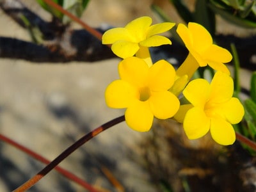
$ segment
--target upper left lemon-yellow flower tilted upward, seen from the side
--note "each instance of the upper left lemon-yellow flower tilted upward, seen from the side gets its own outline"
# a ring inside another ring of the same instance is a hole
[[[132,20],[125,28],[109,29],[102,36],[102,44],[113,44],[111,49],[120,58],[134,56],[143,47],[172,44],[168,38],[157,34],[168,31],[174,23],[151,24],[152,19],[145,16]]]

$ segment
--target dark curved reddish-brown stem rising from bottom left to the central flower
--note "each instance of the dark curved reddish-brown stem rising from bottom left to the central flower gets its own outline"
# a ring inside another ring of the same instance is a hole
[[[73,145],[68,147],[65,151],[63,151],[60,156],[56,157],[51,163],[49,163],[43,170],[38,172],[34,177],[29,179],[27,182],[22,184],[19,188],[15,189],[14,192],[21,192],[21,191],[26,191],[27,189],[31,188],[36,182],[38,182],[40,179],[42,179],[47,173],[51,172],[52,169],[54,169],[58,164],[63,161],[67,156],[72,154],[77,148],[81,147],[86,141],[89,141],[93,137],[97,136],[100,132],[105,131],[106,129],[112,127],[113,125],[119,124],[120,122],[123,122],[125,120],[124,115],[119,116],[118,118],[115,118],[106,124],[101,125],[100,127],[94,129],[92,132],[89,132],[85,136],[83,136],[81,139],[76,141]]]

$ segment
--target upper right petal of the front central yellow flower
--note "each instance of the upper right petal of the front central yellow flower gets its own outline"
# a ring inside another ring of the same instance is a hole
[[[175,69],[165,60],[157,61],[148,70],[148,86],[153,92],[168,90],[175,80]]]

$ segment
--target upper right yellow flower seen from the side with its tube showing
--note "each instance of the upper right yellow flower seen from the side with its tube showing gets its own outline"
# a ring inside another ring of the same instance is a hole
[[[177,33],[189,50],[187,59],[177,70],[177,76],[193,76],[198,67],[209,65],[214,70],[230,74],[223,63],[232,60],[232,55],[227,49],[212,44],[211,34],[200,24],[189,22],[188,28],[179,24]]]

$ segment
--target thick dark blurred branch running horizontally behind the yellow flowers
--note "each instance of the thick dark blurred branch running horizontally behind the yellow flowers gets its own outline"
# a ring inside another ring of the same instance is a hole
[[[1,58],[17,58],[33,62],[68,62],[97,61],[115,57],[109,47],[102,45],[87,31],[72,30],[70,26],[62,24],[56,18],[47,22],[18,0],[0,0],[0,8],[23,28],[39,29],[44,39],[41,45],[36,45],[14,38],[0,37]],[[29,20],[29,26],[24,23],[23,17]],[[216,42],[226,49],[230,49],[231,42],[234,43],[241,67],[256,70],[256,61],[252,60],[253,57],[256,57],[256,36],[237,38],[232,35],[217,35]],[[175,58],[178,61],[177,65],[184,61],[188,53],[177,42],[173,42],[171,47],[169,45],[154,47],[151,52],[154,61]]]

